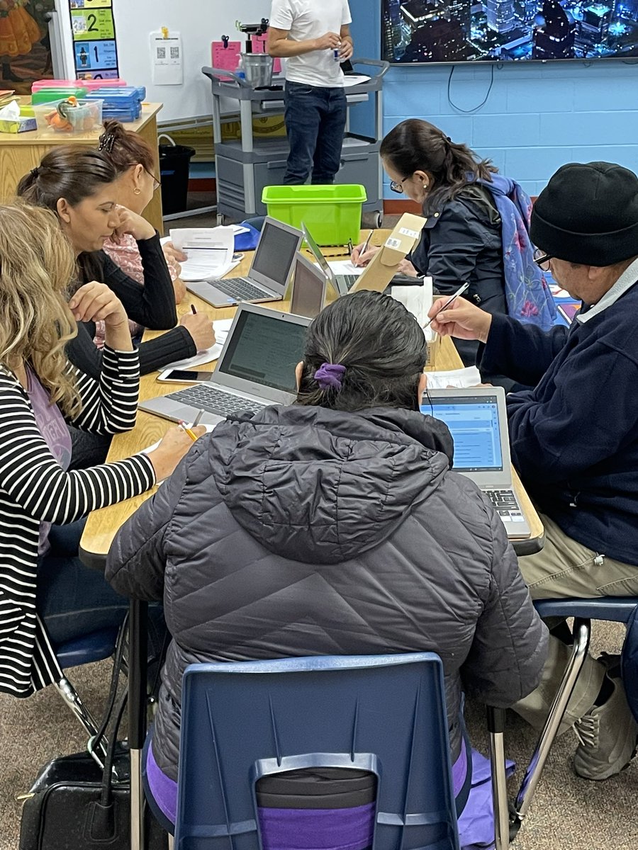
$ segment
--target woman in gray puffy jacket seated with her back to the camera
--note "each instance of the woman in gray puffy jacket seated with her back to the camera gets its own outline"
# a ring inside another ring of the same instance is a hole
[[[308,328],[296,402],[198,439],[117,535],[108,580],[163,599],[174,638],[147,762],[169,819],[193,662],[432,650],[465,798],[463,692],[511,706],[538,684],[544,626],[447,427],[419,411],[425,359],[401,303],[339,298]]]

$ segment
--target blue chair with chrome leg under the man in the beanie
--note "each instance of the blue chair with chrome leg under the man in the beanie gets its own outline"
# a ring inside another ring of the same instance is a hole
[[[550,713],[533,752],[532,760],[527,767],[521,788],[516,796],[514,811],[511,816],[510,832],[513,834],[516,834],[516,831],[520,828],[521,821],[532,804],[533,795],[550,754],[551,745],[554,743],[567,703],[583,669],[584,659],[590,647],[591,621],[604,620],[627,625],[638,609],[638,598],[607,596],[593,599],[537,599],[534,601],[534,607],[543,618],[574,618],[572,655],[567,663],[561,686],[555,695]],[[629,649],[628,642],[625,640],[623,655],[626,655]]]

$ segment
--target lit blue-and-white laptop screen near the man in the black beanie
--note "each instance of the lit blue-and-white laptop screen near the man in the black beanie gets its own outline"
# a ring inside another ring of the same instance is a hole
[[[424,395],[424,400],[427,397]],[[445,422],[454,440],[457,472],[491,472],[503,469],[498,403],[495,395],[432,399],[436,419]],[[421,405],[430,413],[430,405]]]

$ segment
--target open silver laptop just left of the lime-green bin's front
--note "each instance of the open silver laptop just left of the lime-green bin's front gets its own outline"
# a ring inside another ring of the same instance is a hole
[[[186,289],[214,307],[282,301],[302,238],[300,230],[266,217],[246,277],[198,280]]]

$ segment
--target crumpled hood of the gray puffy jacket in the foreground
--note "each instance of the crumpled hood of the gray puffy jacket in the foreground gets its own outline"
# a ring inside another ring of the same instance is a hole
[[[377,547],[441,484],[453,449],[442,422],[383,408],[269,407],[215,435],[214,477],[233,517],[271,552],[308,564]]]

